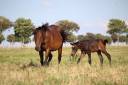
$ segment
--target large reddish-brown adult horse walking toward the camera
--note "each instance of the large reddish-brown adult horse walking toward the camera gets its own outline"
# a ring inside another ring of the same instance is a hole
[[[61,62],[62,46],[64,42],[64,32],[59,26],[48,25],[48,23],[33,30],[35,40],[35,50],[39,52],[41,65],[49,65],[52,60],[51,51],[58,50],[58,63]],[[44,60],[45,52],[45,60]]]

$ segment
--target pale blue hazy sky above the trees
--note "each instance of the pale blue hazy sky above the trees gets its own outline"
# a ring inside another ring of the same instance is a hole
[[[106,34],[109,19],[128,21],[128,0],[0,0],[0,16],[30,18],[36,26],[67,19],[79,24],[78,34]]]

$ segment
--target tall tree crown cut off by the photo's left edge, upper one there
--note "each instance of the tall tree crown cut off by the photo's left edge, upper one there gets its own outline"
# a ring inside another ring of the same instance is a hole
[[[2,31],[6,30],[7,28],[11,27],[12,26],[12,22],[3,17],[3,16],[0,16],[0,32],[2,33]]]

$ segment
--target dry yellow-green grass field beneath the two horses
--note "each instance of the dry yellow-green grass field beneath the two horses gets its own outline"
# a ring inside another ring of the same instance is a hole
[[[92,66],[85,56],[79,65],[69,61],[70,48],[63,48],[58,66],[57,52],[49,67],[41,67],[33,48],[0,48],[0,85],[128,85],[128,47],[107,47],[112,66],[104,56],[100,67],[96,53]]]

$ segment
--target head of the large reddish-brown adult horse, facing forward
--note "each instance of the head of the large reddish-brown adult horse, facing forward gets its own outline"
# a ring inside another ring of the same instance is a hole
[[[33,30],[36,51],[40,51],[41,45],[45,44],[44,41],[45,41],[45,34],[47,29],[48,29],[48,23]]]

